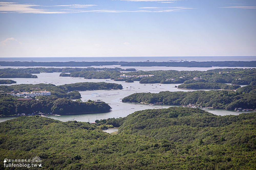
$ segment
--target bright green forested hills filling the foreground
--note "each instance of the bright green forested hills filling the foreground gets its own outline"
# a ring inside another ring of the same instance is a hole
[[[39,156],[48,169],[255,169],[255,119],[256,113],[142,110],[106,120],[120,126],[110,135],[86,122],[21,116],[0,123],[0,159]]]

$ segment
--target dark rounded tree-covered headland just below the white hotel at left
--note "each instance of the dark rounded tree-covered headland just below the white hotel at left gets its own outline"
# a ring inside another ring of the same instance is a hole
[[[88,113],[104,113],[111,110],[105,102],[96,103],[89,100],[73,101],[54,96],[41,97],[38,100],[18,101],[11,96],[0,95],[0,115],[17,116],[18,114],[35,115],[37,113],[74,115]]]

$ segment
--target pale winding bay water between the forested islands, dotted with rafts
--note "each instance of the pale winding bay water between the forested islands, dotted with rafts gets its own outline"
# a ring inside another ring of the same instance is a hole
[[[173,69],[173,68],[172,68]],[[191,69],[191,68],[184,68]],[[198,68],[194,68],[198,69]],[[157,68],[157,70],[161,70]],[[85,100],[96,100],[101,99],[112,107],[112,111],[108,113],[97,113],[97,114],[83,114],[83,115],[63,115],[63,116],[48,116],[53,119],[60,121],[82,121],[82,122],[94,122],[96,119],[107,119],[107,118],[118,118],[125,117],[135,111],[145,110],[145,109],[160,109],[160,108],[169,108],[169,105],[153,105],[148,106],[146,104],[140,103],[123,103],[121,99],[131,95],[133,93],[159,93],[160,91],[194,91],[186,89],[177,89],[175,86],[180,84],[140,84],[138,81],[134,83],[125,83],[125,82],[116,82],[116,81],[106,81],[105,79],[83,79],[79,77],[59,77],[60,73],[40,73],[34,74],[37,75],[37,79],[25,79],[25,78],[14,78],[12,80],[16,81],[17,84],[38,84],[38,83],[52,83],[55,85],[63,85],[70,83],[78,82],[106,82],[106,83],[118,83],[123,86],[122,90],[92,90],[92,91],[79,91],[81,94],[81,99]],[[227,111],[220,109],[206,109],[208,112],[211,112],[216,115],[238,115],[238,112]],[[0,122],[5,120],[13,119],[13,117],[0,118]]]

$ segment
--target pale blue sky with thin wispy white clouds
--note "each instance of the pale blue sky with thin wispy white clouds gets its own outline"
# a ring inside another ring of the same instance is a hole
[[[0,57],[256,56],[255,0],[0,2]]]

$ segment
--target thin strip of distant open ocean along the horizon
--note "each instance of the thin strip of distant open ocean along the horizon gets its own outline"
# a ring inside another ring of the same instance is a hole
[[[93,61],[255,61],[256,56],[200,56],[200,57],[2,57],[0,61],[34,61],[34,62],[93,62]]]

